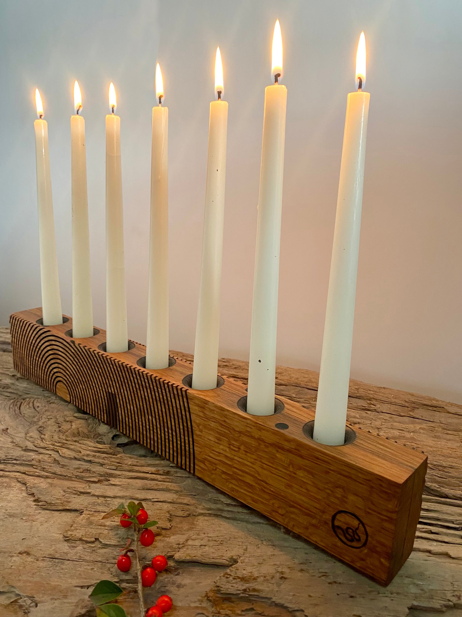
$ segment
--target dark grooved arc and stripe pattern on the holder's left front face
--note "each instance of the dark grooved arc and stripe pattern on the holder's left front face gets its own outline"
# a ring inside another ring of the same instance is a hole
[[[17,315],[11,316],[10,328],[18,373],[195,472],[193,427],[184,387],[74,339],[64,341]]]

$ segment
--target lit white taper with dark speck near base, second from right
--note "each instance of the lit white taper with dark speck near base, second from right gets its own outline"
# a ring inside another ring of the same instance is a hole
[[[287,101],[287,89],[278,83],[282,76],[282,37],[279,20],[274,27],[271,73],[275,83],[265,88],[247,392],[247,411],[258,416],[274,413],[279,247]]]

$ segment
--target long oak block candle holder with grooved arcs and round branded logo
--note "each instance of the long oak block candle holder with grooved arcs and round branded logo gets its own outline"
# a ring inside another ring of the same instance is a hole
[[[190,388],[192,366],[144,368],[145,347],[105,352],[105,331],[71,338],[72,321],[10,317],[15,369],[199,478],[387,585],[413,547],[427,457],[365,431],[346,444],[311,439],[314,412],[278,397],[245,412],[245,387]]]

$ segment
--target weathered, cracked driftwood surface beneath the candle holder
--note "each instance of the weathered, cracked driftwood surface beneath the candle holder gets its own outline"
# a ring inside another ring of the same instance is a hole
[[[414,551],[383,588],[19,376],[7,328],[0,351],[2,617],[93,616],[102,578],[138,615],[132,573],[115,567],[127,531],[101,520],[129,499],[160,523],[145,555],[169,569],[147,605],[168,593],[171,617],[462,617],[462,405],[351,381],[349,423],[429,457]],[[245,381],[245,362],[219,368]],[[279,367],[277,392],[314,407],[317,378]]]

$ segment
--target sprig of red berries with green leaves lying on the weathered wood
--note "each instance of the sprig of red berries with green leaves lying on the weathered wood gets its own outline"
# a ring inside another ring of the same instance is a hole
[[[140,544],[144,547],[152,545],[155,535],[151,527],[157,521],[148,520],[148,513],[141,502],[129,502],[127,507],[120,503],[118,507],[109,511],[102,518],[113,518],[120,516],[120,524],[124,528],[132,528],[135,548],[132,549],[131,538],[128,538],[125,547],[121,550],[117,560],[117,567],[121,572],[128,572],[132,561],[129,553],[134,553],[136,557],[136,570],[138,580],[138,598],[140,603],[140,617],[162,617],[172,608],[172,598],[169,595],[161,595],[155,606],[145,609],[143,587],[151,587],[159,572],[167,567],[167,560],[164,555],[153,557],[151,565],[141,567],[140,563]],[[127,617],[123,608],[115,603],[116,598],[123,594],[123,589],[112,581],[100,581],[97,583],[90,594],[92,602],[96,606],[97,617],[107,615],[108,617]]]

